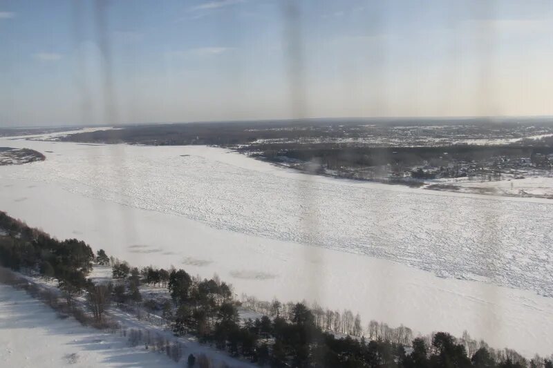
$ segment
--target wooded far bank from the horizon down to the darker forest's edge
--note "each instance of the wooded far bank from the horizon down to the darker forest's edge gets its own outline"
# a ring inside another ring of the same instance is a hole
[[[77,133],[61,137],[68,142],[128,143],[153,146],[178,145],[214,145],[226,146],[241,152],[254,153],[273,162],[299,160],[317,162],[330,170],[340,168],[362,168],[368,166],[404,166],[420,165],[429,162],[432,166],[447,166],[448,162],[480,162],[491,157],[534,157],[540,153],[553,153],[553,139],[523,139],[514,144],[495,146],[451,144],[435,146],[432,134],[442,139],[454,140],[460,137],[501,136],[498,130],[509,136],[509,127],[516,126],[507,119],[505,124],[497,125],[478,119],[453,119],[459,128],[448,126],[447,134],[440,130],[431,130],[421,137],[411,135],[398,136],[393,130],[396,125],[415,126],[420,123],[436,124],[436,119],[307,119],[277,122],[213,122],[191,124],[149,124],[123,126],[116,130],[100,130]],[[372,122],[373,125],[367,125]],[[539,120],[541,122],[541,120]],[[477,124],[480,123],[480,124]],[[541,122],[543,123],[543,122]],[[440,124],[442,124],[440,122]],[[448,124],[446,121],[445,125]],[[544,128],[542,131],[549,128]],[[430,136],[427,136],[430,135]],[[357,141],[359,139],[359,141]],[[393,139],[396,144],[368,144],[383,139]],[[491,139],[493,142],[493,139]],[[413,142],[411,142],[413,141]],[[428,141],[428,142],[427,142]],[[365,143],[364,143],[365,142]],[[418,142],[418,143],[417,143]]]

